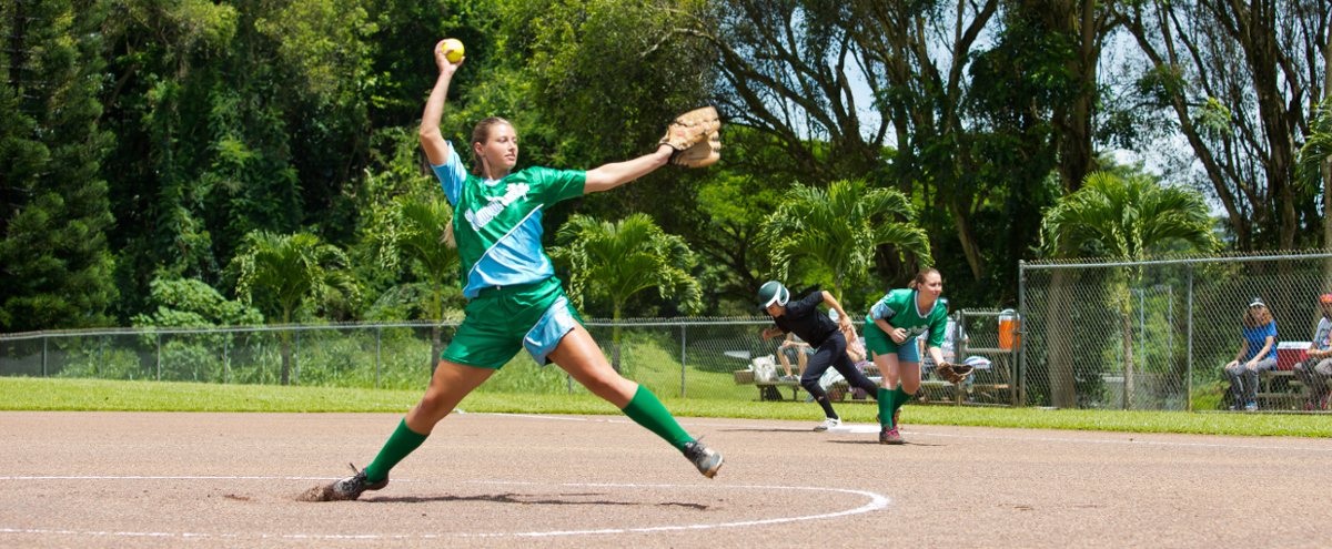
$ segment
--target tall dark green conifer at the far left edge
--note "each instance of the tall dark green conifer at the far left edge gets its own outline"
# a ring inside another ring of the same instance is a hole
[[[0,7],[0,330],[105,324],[113,219],[97,119],[101,1]]]

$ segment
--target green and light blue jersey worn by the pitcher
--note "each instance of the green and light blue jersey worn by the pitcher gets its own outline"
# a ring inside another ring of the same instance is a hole
[[[430,168],[453,205],[464,296],[476,298],[486,288],[555,274],[541,248],[541,211],[582,196],[586,172],[527,168],[500,180],[482,179],[462,168],[452,143],[444,165]]]

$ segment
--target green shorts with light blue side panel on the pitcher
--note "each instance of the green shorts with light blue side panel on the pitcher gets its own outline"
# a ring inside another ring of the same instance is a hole
[[[484,289],[465,312],[441,358],[489,369],[500,369],[522,349],[545,365],[559,340],[582,324],[555,277]]]

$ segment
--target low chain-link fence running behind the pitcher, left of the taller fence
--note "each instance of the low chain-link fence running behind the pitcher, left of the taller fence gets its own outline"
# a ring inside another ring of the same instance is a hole
[[[1011,345],[1003,348],[995,312],[959,312],[964,356],[988,356],[967,398],[1012,404]],[[863,332],[863,322],[855,322]],[[686,398],[758,400],[757,357],[781,353],[763,341],[767,317],[589,320],[587,330],[625,377],[654,393]],[[192,381],[216,384],[425,389],[430,369],[457,322],[292,325],[210,329],[108,329],[0,336],[0,376]],[[968,342],[970,341],[970,346]],[[284,366],[285,365],[285,366]],[[285,374],[284,374],[285,372]],[[589,394],[555,366],[537,366],[519,352],[477,390]],[[767,389],[771,392],[771,389]],[[948,393],[951,401],[956,393]]]

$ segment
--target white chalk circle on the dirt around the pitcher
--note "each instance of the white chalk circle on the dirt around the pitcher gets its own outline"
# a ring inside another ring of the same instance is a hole
[[[224,477],[224,476],[177,476],[177,477],[111,477],[111,476],[96,476],[96,477],[73,477],[73,476],[52,476],[52,477],[0,477],[0,480],[325,480],[317,477]],[[398,478],[393,480],[398,482]],[[711,488],[711,489],[750,489],[750,490],[806,490],[806,492],[836,492],[846,494],[863,496],[870,498],[870,502],[847,510],[839,510],[834,513],[823,514],[809,514],[801,517],[783,517],[783,518],[766,518],[758,521],[737,521],[737,522],[721,522],[721,524],[690,524],[690,525],[675,525],[675,526],[649,526],[649,528],[605,528],[597,530],[549,530],[549,532],[490,532],[490,533],[450,533],[450,534],[257,534],[249,537],[258,538],[292,538],[292,540],[405,540],[405,538],[457,538],[457,537],[554,537],[554,536],[599,536],[599,534],[625,534],[625,533],[655,533],[655,532],[681,532],[681,530],[707,530],[715,528],[742,528],[742,526],[762,526],[774,524],[789,524],[801,521],[814,521],[814,520],[827,520],[836,517],[846,517],[851,514],[871,513],[875,510],[887,509],[888,504],[892,502],[887,496],[878,494],[874,492],[864,490],[848,490],[840,488],[819,488],[819,486],[746,486],[746,485],[674,485],[674,484],[550,484],[550,482],[509,482],[509,481],[465,481],[462,484],[485,484],[485,485],[523,485],[523,486],[561,486],[561,488],[630,488],[630,489],[679,489],[679,488]],[[0,534],[3,533],[17,533],[17,534],[60,534],[60,536],[119,536],[119,537],[217,537],[217,538],[237,538],[240,534],[206,534],[206,533],[172,533],[172,532],[104,532],[104,530],[47,530],[47,529],[20,529],[20,528],[0,528]]]

